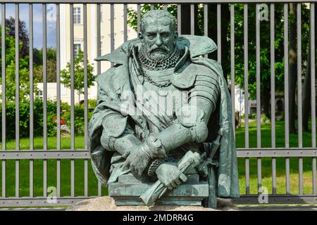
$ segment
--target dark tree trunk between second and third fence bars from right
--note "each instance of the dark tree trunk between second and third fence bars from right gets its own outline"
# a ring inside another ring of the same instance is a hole
[[[297,84],[297,51],[296,51],[296,6],[290,4],[290,51],[289,51],[289,126],[290,133],[296,133],[295,119],[296,119],[296,105],[295,105],[295,93]]]

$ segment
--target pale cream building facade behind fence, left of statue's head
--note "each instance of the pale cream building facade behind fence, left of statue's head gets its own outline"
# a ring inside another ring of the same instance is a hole
[[[111,21],[110,21],[110,4],[100,5],[100,27],[101,27],[101,56],[111,52]],[[129,7],[136,8],[134,5]],[[118,48],[124,42],[124,20],[123,20],[123,4],[114,4],[114,47]],[[84,23],[83,23],[83,5],[73,5],[73,21],[74,21],[74,57],[76,57],[79,49],[84,51]],[[61,53],[61,70],[66,69],[66,65],[70,62],[70,5],[60,4],[60,53]],[[128,26],[128,39],[137,37],[137,32]],[[97,76],[97,5],[87,4],[87,59],[88,63],[94,68],[94,75]],[[111,63],[101,62],[101,72],[108,70]],[[43,84],[37,84],[39,95],[42,93]],[[69,88],[61,84],[61,101],[70,104]],[[56,100],[56,83],[47,84],[47,98]],[[88,89],[88,99],[97,98],[97,84]],[[77,91],[75,91],[75,103],[79,103],[84,99],[84,96],[78,98]]]

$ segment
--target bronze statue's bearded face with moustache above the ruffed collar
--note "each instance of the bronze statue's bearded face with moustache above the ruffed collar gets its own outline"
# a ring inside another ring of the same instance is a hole
[[[151,60],[164,60],[175,49],[178,33],[170,18],[147,18],[142,32],[139,33],[147,57]]]

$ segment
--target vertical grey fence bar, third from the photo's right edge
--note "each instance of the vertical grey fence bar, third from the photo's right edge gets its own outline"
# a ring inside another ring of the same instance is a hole
[[[289,93],[288,93],[288,4],[284,4],[284,94],[285,94],[285,148],[290,148]],[[285,158],[286,193],[290,193],[290,158]]]

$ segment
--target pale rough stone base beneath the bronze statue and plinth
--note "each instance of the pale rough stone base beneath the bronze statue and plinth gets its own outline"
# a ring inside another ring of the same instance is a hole
[[[115,204],[110,196],[83,200],[66,209],[66,211],[236,211],[237,207],[218,199],[218,208],[204,208],[202,206],[179,206],[179,205],[122,205]]]

